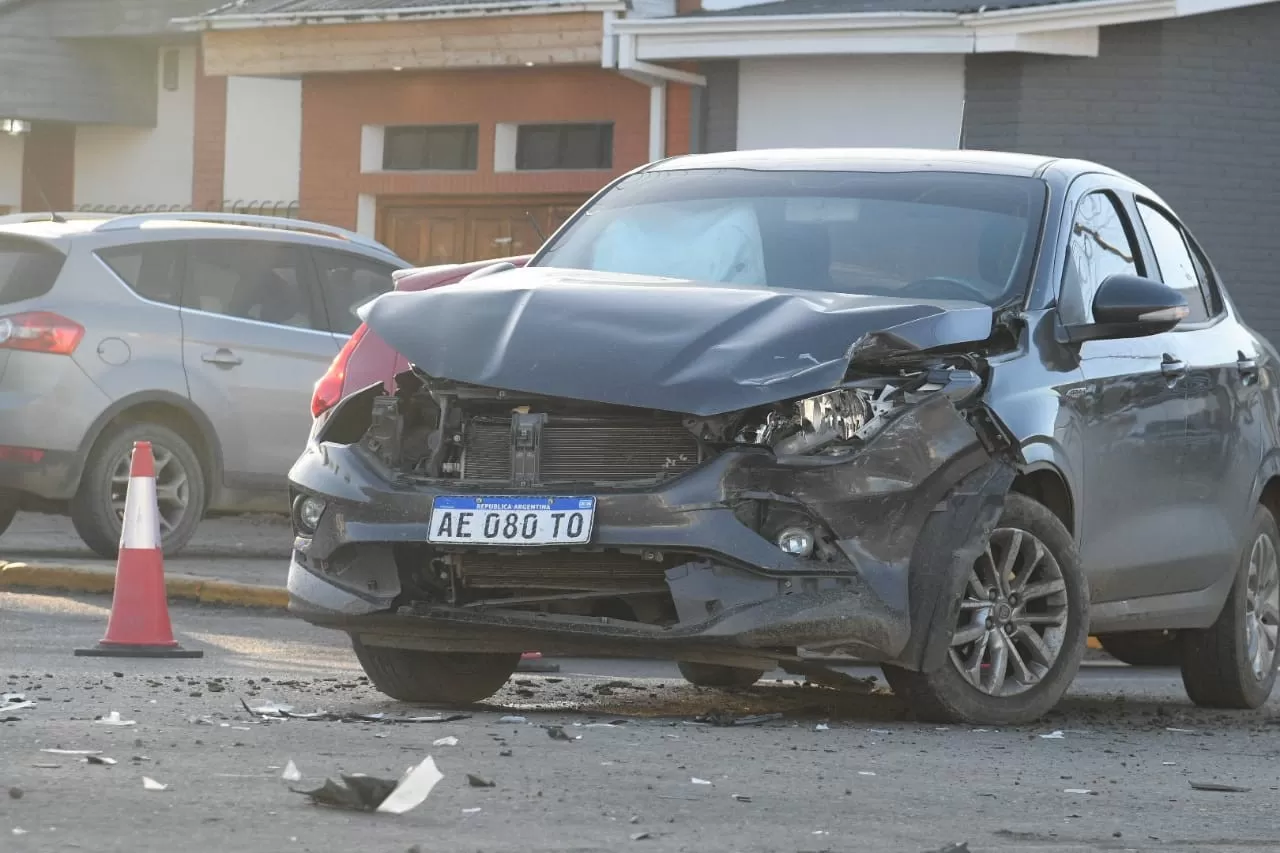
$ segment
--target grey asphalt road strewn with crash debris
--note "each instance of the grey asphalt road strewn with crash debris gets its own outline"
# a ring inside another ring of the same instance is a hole
[[[204,660],[73,657],[101,637],[105,605],[0,593],[0,689],[37,703],[0,715],[19,717],[0,724],[0,850],[1280,847],[1280,703],[1198,711],[1171,671],[1092,665],[1061,712],[1010,730],[908,722],[888,694],[844,698],[790,681],[726,694],[681,683],[666,663],[599,661],[518,676],[454,722],[265,722],[239,699],[300,712],[424,711],[372,692],[340,637],[285,616],[175,607],[179,640],[206,649]],[[712,708],[785,716],[690,722]],[[93,721],[111,711],[136,725]],[[527,722],[499,722],[506,713]],[[543,725],[580,739],[553,740]],[[445,736],[458,743],[433,745]],[[119,763],[47,748],[99,749]],[[298,788],[339,772],[398,777],[428,754],[444,780],[402,816],[317,808],[280,777],[289,761]],[[474,788],[467,774],[494,786]],[[146,790],[143,776],[168,789]],[[1192,781],[1251,790],[1199,792]]]

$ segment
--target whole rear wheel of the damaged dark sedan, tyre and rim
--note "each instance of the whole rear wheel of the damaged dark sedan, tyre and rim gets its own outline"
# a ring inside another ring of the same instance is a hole
[[[1280,530],[1266,507],[1253,515],[1226,605],[1212,626],[1181,631],[1183,685],[1207,708],[1260,708],[1276,683]]]

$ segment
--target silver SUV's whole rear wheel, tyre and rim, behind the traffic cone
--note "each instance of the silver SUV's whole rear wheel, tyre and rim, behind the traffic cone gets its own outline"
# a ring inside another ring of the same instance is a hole
[[[151,442],[164,553],[182,551],[205,515],[205,473],[186,438],[160,424],[110,428],[90,452],[72,498],[72,524],[90,548],[113,558],[120,544],[133,442]]]

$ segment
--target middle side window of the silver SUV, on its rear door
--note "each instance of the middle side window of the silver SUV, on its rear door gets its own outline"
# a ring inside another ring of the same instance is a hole
[[[202,240],[187,248],[183,307],[297,329],[323,329],[301,246]]]

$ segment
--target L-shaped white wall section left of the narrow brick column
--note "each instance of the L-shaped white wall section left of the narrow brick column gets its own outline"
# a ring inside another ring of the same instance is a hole
[[[157,68],[156,127],[76,128],[76,205],[188,205],[195,161],[196,49],[180,47],[178,90]],[[164,61],[164,49],[156,59]]]

